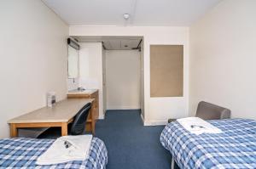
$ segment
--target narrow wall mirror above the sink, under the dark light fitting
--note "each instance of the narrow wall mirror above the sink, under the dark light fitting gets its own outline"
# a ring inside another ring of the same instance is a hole
[[[68,78],[79,76],[79,50],[68,45],[67,72]]]

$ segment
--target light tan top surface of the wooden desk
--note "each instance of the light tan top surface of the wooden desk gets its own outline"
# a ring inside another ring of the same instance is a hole
[[[8,123],[37,123],[37,122],[68,122],[83,108],[85,104],[94,99],[64,99],[53,107],[43,107],[25,115],[20,115]]]

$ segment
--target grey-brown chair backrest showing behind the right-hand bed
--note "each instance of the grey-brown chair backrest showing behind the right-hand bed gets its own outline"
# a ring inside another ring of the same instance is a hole
[[[230,113],[231,111],[227,108],[201,101],[197,106],[195,116],[203,120],[219,120],[230,118]]]

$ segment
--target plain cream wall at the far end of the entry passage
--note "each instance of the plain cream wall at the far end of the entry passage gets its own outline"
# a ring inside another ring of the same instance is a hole
[[[107,50],[107,110],[140,109],[140,52]]]

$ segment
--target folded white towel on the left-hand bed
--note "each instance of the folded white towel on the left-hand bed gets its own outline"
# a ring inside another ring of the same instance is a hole
[[[57,138],[43,155],[38,157],[37,165],[52,165],[67,161],[85,161],[89,157],[92,135],[63,136]]]

